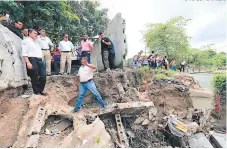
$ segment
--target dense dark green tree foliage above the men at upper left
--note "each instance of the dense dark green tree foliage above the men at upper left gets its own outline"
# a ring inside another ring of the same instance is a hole
[[[0,1],[0,13],[9,13],[11,20],[22,20],[25,27],[43,27],[59,42],[63,33],[92,37],[104,31],[108,10],[99,6],[97,1]],[[75,43],[81,39],[71,40]]]

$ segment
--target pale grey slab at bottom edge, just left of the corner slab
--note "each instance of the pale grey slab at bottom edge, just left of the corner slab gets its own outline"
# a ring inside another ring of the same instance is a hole
[[[204,133],[196,133],[188,137],[190,148],[213,148]]]

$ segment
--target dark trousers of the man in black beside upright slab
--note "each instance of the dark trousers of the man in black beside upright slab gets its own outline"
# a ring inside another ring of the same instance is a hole
[[[108,49],[102,50],[102,63],[105,69],[107,68],[115,69],[114,58],[115,54],[111,53],[111,50]]]

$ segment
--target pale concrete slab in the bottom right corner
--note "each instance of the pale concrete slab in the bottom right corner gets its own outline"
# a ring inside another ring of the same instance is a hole
[[[227,136],[226,134],[216,133],[214,131],[210,131],[210,140],[215,144],[218,148],[227,148]]]

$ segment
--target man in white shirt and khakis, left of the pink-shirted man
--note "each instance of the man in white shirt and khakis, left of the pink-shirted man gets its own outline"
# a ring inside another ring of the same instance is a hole
[[[65,71],[65,62],[67,61],[68,69],[67,74],[71,73],[71,57],[72,52],[74,52],[74,46],[71,41],[68,40],[69,35],[64,34],[64,40],[59,43],[58,49],[61,51],[61,61],[60,61],[60,74],[63,75]]]

